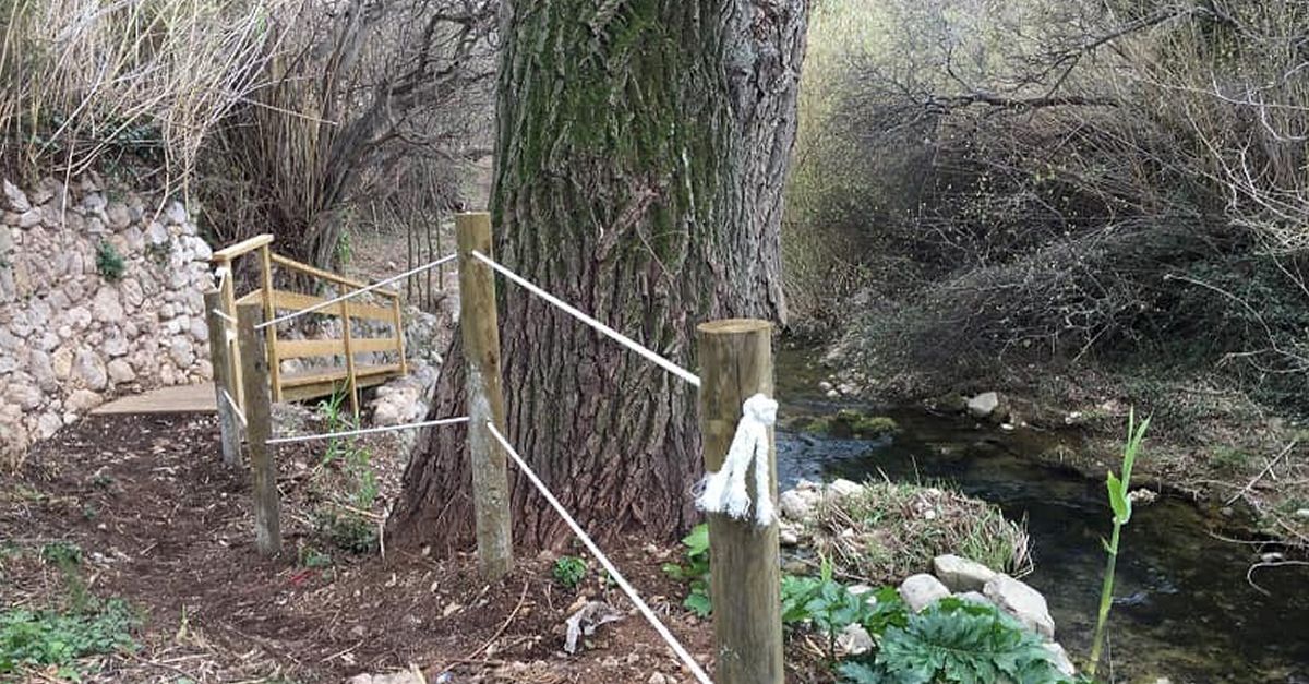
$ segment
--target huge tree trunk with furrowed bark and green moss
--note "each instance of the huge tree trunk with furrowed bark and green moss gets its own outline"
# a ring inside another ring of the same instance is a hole
[[[496,258],[694,368],[695,324],[784,316],[778,244],[808,0],[507,0]],[[508,436],[602,539],[694,518],[695,389],[501,282]],[[456,335],[458,339],[458,335]],[[432,415],[462,415],[459,345]],[[514,477],[514,537],[565,536]],[[419,443],[397,540],[470,539],[462,428]]]

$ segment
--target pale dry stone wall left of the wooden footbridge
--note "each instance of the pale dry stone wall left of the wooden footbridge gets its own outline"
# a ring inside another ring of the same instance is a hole
[[[186,208],[88,174],[0,197],[0,463],[106,400],[208,380],[209,246]]]

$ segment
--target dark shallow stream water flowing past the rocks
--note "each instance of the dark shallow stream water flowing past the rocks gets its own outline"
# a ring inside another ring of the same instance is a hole
[[[778,355],[784,421],[850,406],[872,409],[822,397],[810,358],[789,350]],[[950,482],[1000,506],[1011,519],[1026,518],[1035,571],[1024,579],[1050,603],[1056,638],[1075,659],[1084,656],[1103,578],[1101,539],[1110,529],[1105,484],[1031,459],[1035,449],[1068,438],[1003,432],[915,409],[880,413],[902,428],[891,440],[779,428],[781,486],[800,477],[863,481],[885,473],[897,481]],[[1309,684],[1309,567],[1257,570],[1253,579],[1261,591],[1246,580],[1258,553],[1211,535],[1213,523],[1192,503],[1169,497],[1134,511],[1118,561],[1113,668],[1101,670],[1106,681]]]

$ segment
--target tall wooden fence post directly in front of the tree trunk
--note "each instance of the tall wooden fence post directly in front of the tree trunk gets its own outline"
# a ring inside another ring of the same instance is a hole
[[[463,334],[469,410],[469,459],[478,528],[478,567],[486,579],[513,569],[509,518],[509,472],[505,453],[487,430],[487,421],[504,428],[500,390],[500,332],[496,325],[495,273],[471,256],[491,257],[491,215],[459,214],[454,219],[459,244],[459,329]]]

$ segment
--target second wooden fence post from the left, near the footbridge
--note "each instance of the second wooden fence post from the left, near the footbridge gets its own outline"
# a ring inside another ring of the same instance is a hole
[[[263,321],[263,304],[237,307],[237,343],[241,346],[241,377],[245,383],[246,448],[254,480],[254,533],[259,553],[281,550],[281,498],[278,494],[278,464],[268,438],[272,436],[272,400],[268,384],[268,355],[255,325]]]

